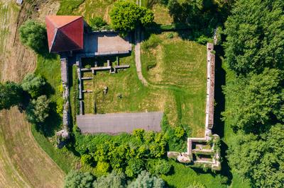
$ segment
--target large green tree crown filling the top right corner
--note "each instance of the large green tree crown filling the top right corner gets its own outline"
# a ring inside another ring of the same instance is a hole
[[[226,20],[226,61],[237,74],[283,69],[284,1],[239,0]]]

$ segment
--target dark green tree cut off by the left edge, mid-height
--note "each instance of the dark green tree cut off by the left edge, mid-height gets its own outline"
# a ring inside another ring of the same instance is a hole
[[[19,105],[23,98],[23,89],[18,83],[7,81],[0,83],[0,110]]]

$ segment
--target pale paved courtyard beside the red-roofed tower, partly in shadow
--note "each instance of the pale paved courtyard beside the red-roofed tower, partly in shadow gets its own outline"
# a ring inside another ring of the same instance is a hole
[[[129,38],[120,37],[117,33],[88,33],[84,34],[84,52],[111,53],[131,51]]]

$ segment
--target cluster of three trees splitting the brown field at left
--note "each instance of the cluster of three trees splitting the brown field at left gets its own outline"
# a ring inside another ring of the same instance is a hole
[[[26,110],[28,122],[41,127],[50,111],[45,86],[45,79],[35,74],[27,74],[21,83],[0,83],[0,110],[18,106],[20,110]]]

